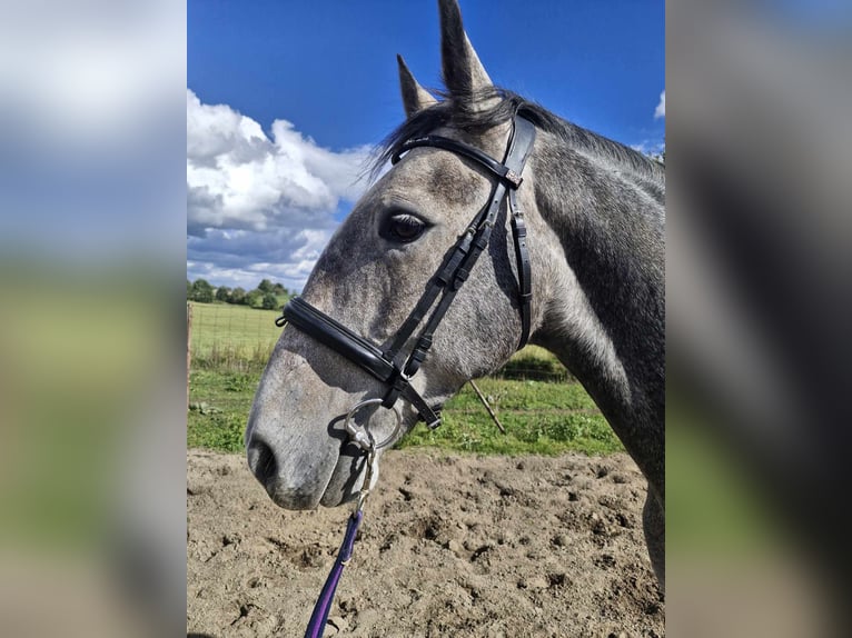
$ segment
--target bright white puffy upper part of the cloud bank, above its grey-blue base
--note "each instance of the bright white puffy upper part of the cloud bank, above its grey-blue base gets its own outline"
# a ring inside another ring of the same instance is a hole
[[[256,231],[325,227],[340,200],[354,201],[366,148],[320,148],[285,120],[269,139],[260,124],[187,90],[187,226]]]

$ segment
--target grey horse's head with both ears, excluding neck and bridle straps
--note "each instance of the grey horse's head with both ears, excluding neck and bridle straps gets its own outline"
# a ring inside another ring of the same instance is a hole
[[[473,113],[499,110],[503,100],[470,46],[455,0],[442,0],[439,8],[445,99],[437,101],[398,59],[408,119],[386,159],[406,139],[437,133],[499,160],[513,134],[512,113],[495,117],[494,126],[464,126]],[[527,223],[535,226],[533,169],[531,161],[516,196]],[[387,349],[495,188],[494,175],[468,157],[428,146],[410,148],[339,227],[301,299]],[[503,202],[487,248],[410,379],[430,406],[439,408],[467,380],[496,370],[515,352],[522,337],[517,276]],[[532,325],[537,321],[534,307]],[[415,331],[402,350],[410,349],[416,338]],[[354,498],[364,480],[366,456],[348,440],[344,421],[354,406],[387,391],[335,348],[287,327],[261,378],[246,433],[249,466],[273,500],[289,509],[309,509]],[[361,425],[368,420],[376,439],[397,439],[418,420],[409,401],[398,405],[400,428],[395,429],[390,410],[375,406],[355,418]]]

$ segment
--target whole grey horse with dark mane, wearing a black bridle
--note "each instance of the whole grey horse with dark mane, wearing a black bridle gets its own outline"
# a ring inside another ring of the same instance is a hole
[[[657,162],[496,89],[470,46],[455,0],[440,0],[443,76],[437,101],[399,59],[405,140],[437,133],[503,157],[512,118],[537,131],[517,191],[533,272],[531,342],[583,383],[648,481],[644,529],[664,578],[664,197]],[[385,173],[331,238],[303,298],[357,335],[387,345],[469,220],[494,178],[438,148],[416,148]],[[506,212],[458,292],[415,389],[440,405],[469,379],[494,372],[521,337],[517,279]],[[248,462],[271,499],[288,509],[353,500],[365,455],[343,419],[387,388],[336,351],[286,329],[260,381],[246,432]],[[404,403],[404,427],[417,411]],[[369,427],[390,432],[389,410]]]

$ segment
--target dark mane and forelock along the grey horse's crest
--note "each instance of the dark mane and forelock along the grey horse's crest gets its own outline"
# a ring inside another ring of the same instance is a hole
[[[402,144],[412,138],[428,134],[442,127],[453,127],[470,133],[483,132],[511,120],[517,113],[533,122],[536,128],[555,134],[571,148],[584,153],[603,156],[617,166],[653,181],[662,182],[665,179],[663,162],[563,120],[541,104],[531,102],[509,90],[489,88],[485,94],[467,96],[463,99],[454,98],[446,92],[436,92],[444,98],[442,101],[408,118],[380,142],[371,168],[373,177],[376,177]],[[476,103],[483,98],[494,98],[495,94],[501,100],[489,109],[464,108],[464,104]]]

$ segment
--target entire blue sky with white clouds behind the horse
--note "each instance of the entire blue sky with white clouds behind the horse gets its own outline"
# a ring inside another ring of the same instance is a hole
[[[460,6],[496,83],[625,144],[660,148],[663,1]],[[189,0],[190,279],[301,287],[366,187],[353,182],[368,149],[402,121],[396,53],[422,84],[440,87],[435,0]]]

